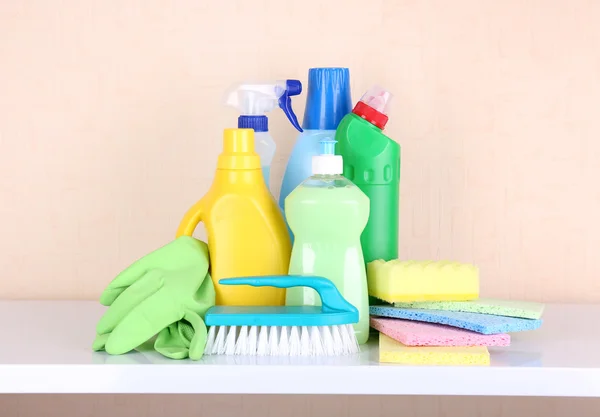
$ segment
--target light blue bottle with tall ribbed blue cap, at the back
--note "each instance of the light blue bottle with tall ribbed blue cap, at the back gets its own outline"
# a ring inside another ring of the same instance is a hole
[[[285,198],[312,175],[312,157],[321,153],[320,142],[335,137],[338,124],[351,111],[348,68],[308,70],[308,92],[302,122],[304,132],[296,140],[283,175],[279,196],[282,210]]]

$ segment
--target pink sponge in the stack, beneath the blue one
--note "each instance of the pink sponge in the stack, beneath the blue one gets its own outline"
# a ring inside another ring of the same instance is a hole
[[[508,346],[507,334],[479,334],[440,324],[371,317],[371,327],[406,346]]]

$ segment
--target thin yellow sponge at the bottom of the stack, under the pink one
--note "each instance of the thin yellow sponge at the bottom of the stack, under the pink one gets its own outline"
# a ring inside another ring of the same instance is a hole
[[[406,365],[489,365],[485,346],[405,346],[379,333],[379,362]]]

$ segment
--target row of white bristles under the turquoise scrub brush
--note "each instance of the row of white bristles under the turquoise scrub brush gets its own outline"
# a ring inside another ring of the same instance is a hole
[[[206,355],[341,356],[360,352],[351,324],[339,326],[213,326]]]

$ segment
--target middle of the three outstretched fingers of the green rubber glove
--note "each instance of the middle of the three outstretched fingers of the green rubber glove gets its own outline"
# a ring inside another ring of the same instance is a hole
[[[110,307],[98,321],[96,333],[103,334],[112,332],[117,325],[138,305],[151,295],[155,294],[164,283],[164,273],[160,270],[152,270],[145,274],[142,279],[135,282],[120,296],[111,303]],[[112,294],[110,290],[104,291],[105,294]],[[102,298],[100,299],[102,302]],[[104,303],[103,303],[104,304]]]

